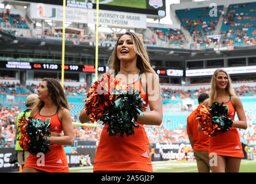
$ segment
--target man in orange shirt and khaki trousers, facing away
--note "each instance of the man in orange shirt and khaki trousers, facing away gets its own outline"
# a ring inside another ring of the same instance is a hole
[[[204,102],[207,98],[209,98],[208,94],[200,94],[198,96],[198,104],[202,105],[202,102]],[[209,137],[203,132],[198,132],[198,122],[195,119],[195,113],[196,110],[194,110],[187,118],[187,133],[189,136],[189,142],[193,148],[194,158],[196,158],[198,173],[209,173]]]

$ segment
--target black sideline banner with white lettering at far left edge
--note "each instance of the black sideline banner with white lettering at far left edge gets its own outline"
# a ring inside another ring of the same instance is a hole
[[[10,156],[14,151],[14,148],[0,148],[0,172],[17,172],[19,170],[17,163],[9,163]]]

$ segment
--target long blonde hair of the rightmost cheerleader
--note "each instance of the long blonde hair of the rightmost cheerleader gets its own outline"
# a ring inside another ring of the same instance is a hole
[[[222,68],[218,68],[217,70],[215,70],[214,74],[212,75],[212,87],[211,87],[211,92],[210,92],[210,97],[209,97],[209,103],[208,106],[211,106],[212,103],[215,101],[216,97],[217,97],[217,87],[216,87],[216,76],[217,74],[219,74],[219,72],[224,72],[227,77],[228,77],[228,84],[226,87],[226,91],[229,95],[231,96],[235,96],[235,91],[233,90],[232,86],[231,86],[231,78],[230,75],[228,75],[227,71],[222,69]]]

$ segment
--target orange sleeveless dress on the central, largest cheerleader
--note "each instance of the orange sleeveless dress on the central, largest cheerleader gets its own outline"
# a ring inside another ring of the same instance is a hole
[[[135,83],[130,85],[142,91],[140,96],[148,105],[148,98],[142,88],[141,74]],[[152,173],[152,163],[149,150],[148,137],[143,125],[134,128],[134,134],[120,137],[109,136],[108,125],[102,129],[94,159],[93,171],[144,171]]]

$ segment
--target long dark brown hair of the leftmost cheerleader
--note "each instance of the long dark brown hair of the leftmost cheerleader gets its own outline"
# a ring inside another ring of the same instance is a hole
[[[70,106],[68,105],[66,94],[64,93],[64,90],[60,85],[59,81],[54,78],[44,78],[43,81],[47,82],[49,95],[57,108],[66,108],[70,111]],[[35,108],[37,110],[40,110],[41,108],[43,108],[43,106],[44,101],[40,100],[39,102],[37,102]]]

